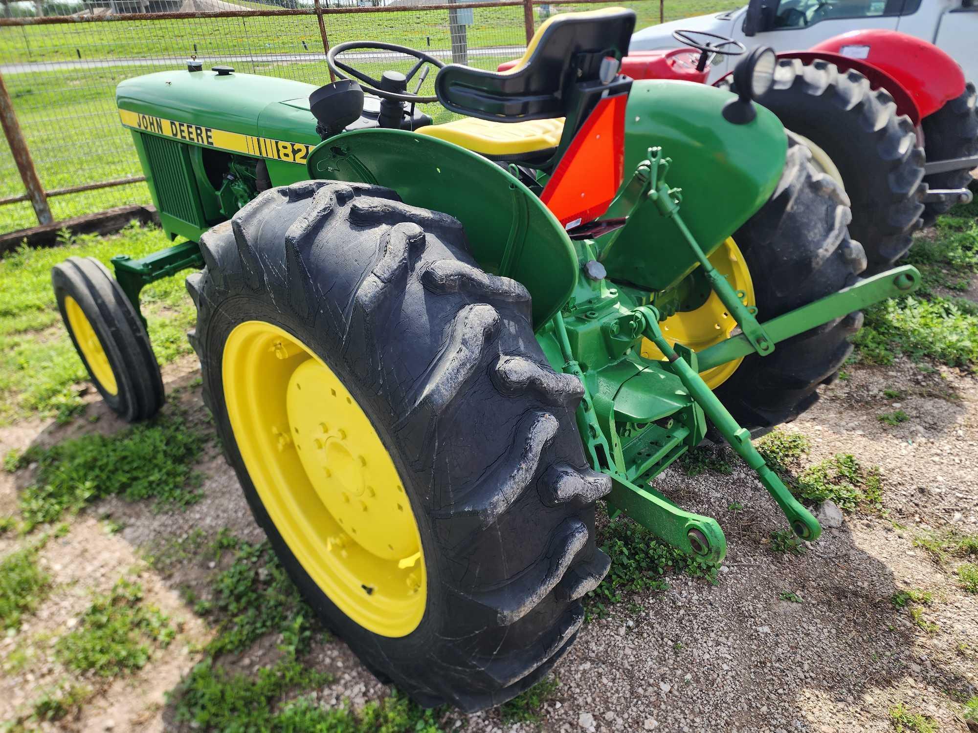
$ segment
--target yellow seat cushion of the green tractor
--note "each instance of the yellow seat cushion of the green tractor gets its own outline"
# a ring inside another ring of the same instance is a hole
[[[522,155],[556,148],[563,132],[563,117],[528,122],[492,122],[463,117],[441,125],[421,127],[415,132],[447,140],[483,155]]]

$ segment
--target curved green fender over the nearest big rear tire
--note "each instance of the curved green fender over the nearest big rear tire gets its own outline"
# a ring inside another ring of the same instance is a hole
[[[452,143],[402,130],[356,130],[320,143],[309,175],[386,186],[413,206],[443,211],[466,228],[487,272],[521,282],[540,328],[577,284],[577,257],[550,210],[500,166]]]

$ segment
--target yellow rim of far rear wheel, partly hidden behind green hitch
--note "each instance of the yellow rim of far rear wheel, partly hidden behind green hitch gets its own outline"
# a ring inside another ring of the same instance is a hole
[[[728,237],[717,247],[710,255],[710,262],[721,275],[727,278],[734,290],[743,291],[745,304],[755,305],[754,283],[750,279],[750,271],[747,269],[743,254],[732,238]],[[720,302],[717,294],[711,292],[707,301],[696,310],[677,313],[663,321],[662,335],[670,344],[678,342],[694,351],[701,351],[729,338],[734,327],[736,323],[733,317]],[[646,359],[664,359],[662,352],[647,339],[642,341],[642,356]],[[716,389],[731,378],[742,361],[742,357],[735,359],[733,362],[707,369],[700,376],[706,380],[710,389]]]

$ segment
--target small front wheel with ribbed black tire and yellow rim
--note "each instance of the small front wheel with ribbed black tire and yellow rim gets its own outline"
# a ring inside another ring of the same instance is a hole
[[[119,283],[93,257],[68,257],[51,272],[58,310],[75,351],[111,410],[127,422],[163,405],[150,337]]]

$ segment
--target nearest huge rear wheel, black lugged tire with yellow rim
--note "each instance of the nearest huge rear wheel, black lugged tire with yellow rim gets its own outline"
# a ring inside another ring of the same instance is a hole
[[[376,186],[270,190],[200,245],[204,399],[313,608],[424,706],[534,684],[607,571],[610,480],[526,289],[479,270],[458,221]]]

